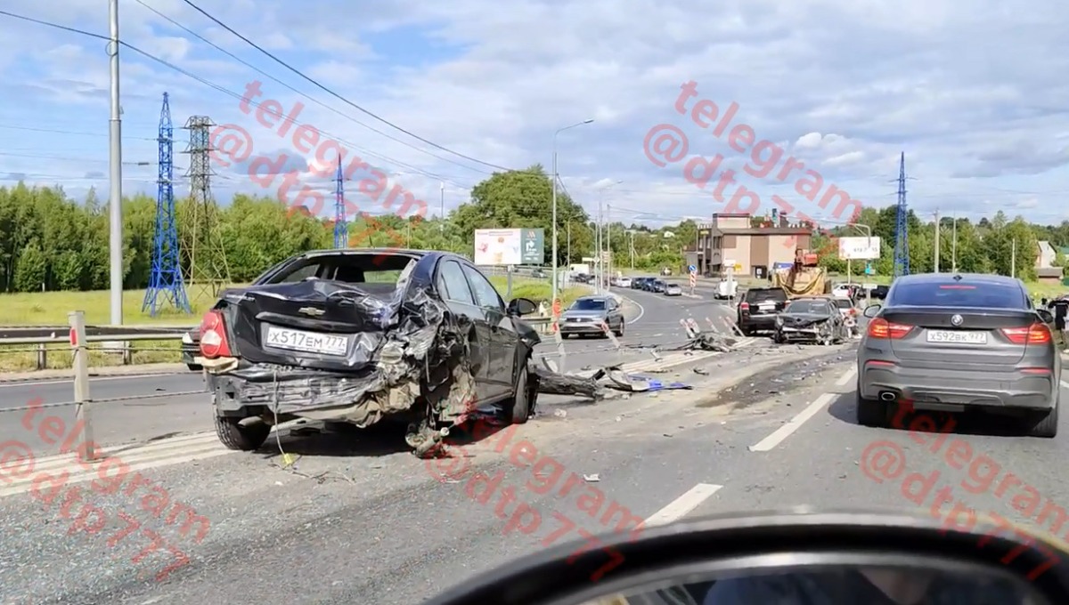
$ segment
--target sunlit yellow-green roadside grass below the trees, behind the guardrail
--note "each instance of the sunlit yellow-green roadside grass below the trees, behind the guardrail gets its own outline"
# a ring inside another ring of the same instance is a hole
[[[503,276],[491,276],[494,287],[503,298],[507,281]],[[583,288],[564,288],[560,291],[567,307],[576,298],[587,293]],[[196,325],[201,316],[213,304],[215,296],[207,288],[193,287],[187,291],[192,314],[187,315],[166,307],[156,317],[141,312],[144,290],[123,292],[124,325]],[[512,298],[527,298],[536,303],[549,302],[552,286],[545,281],[514,278]],[[106,290],[91,292],[32,292],[0,294],[0,324],[2,325],[67,325],[67,313],[82,311],[89,325],[107,325],[111,322],[110,294]],[[173,340],[140,340],[131,343],[134,364],[174,363],[181,361],[180,343]],[[98,349],[90,350],[91,366],[113,366],[122,364],[122,355]],[[0,347],[0,371],[25,371],[37,368],[37,346]],[[71,367],[71,349],[66,345],[47,345],[47,367],[61,369]]]

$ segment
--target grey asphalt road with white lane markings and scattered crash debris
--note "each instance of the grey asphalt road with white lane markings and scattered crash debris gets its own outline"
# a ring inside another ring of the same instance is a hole
[[[667,347],[682,340],[681,318],[730,316],[710,301],[625,293],[634,302],[626,306],[632,323],[623,344]],[[604,346],[593,339],[566,346],[575,366],[632,354],[593,350]],[[562,523],[599,532],[621,520],[630,527],[629,519],[654,524],[792,504],[901,508],[907,505],[893,481],[873,485],[858,466],[872,440],[898,443],[910,472],[943,468],[949,477],[951,469],[913,443],[918,435],[853,424],[852,347],[758,340],[730,353],[695,354],[673,368],[647,361],[647,371],[664,370],[659,379],[692,389],[597,404],[543,397],[530,423],[436,463],[415,459],[388,427],[356,436],[284,433],[262,451],[232,452],[200,432],[211,427],[203,395],[170,394],[197,386],[196,375],[100,379],[94,398],[167,394],[159,404],[110,404],[115,416],[102,418],[100,430],[140,435],[138,442],[166,439],[130,444],[112,462],[87,469],[69,457],[47,457],[65,431],[42,432],[45,414],[33,417],[33,439],[56,442],[31,446],[34,480],[11,482],[13,458],[0,452],[0,473],[9,474],[0,476],[4,601],[419,603],[544,547]],[[648,357],[635,353],[636,361]],[[69,383],[6,385],[0,397],[56,399],[68,389]],[[56,411],[66,419],[68,410]],[[33,441],[24,417],[0,416],[0,443],[15,434]],[[1037,453],[1056,457],[1064,447],[1057,440],[961,439],[1007,467]],[[512,462],[510,451],[521,442],[537,450],[531,459],[543,461],[540,472]],[[1019,476],[1062,497],[1056,466],[1039,473],[1034,466],[1021,466]],[[605,504],[589,513],[579,508],[584,493],[585,500],[600,494]],[[510,501],[502,505],[502,497]],[[81,504],[65,504],[76,498]],[[1013,512],[1004,501],[975,506]],[[576,537],[572,530],[559,540]],[[175,564],[184,559],[188,564]]]

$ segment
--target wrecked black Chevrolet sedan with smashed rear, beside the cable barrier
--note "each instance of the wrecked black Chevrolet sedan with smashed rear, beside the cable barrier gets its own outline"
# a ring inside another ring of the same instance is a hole
[[[200,327],[219,441],[259,448],[295,418],[408,423],[431,451],[474,411],[533,412],[538,333],[467,259],[443,252],[329,250],[289,258],[224,290]]]

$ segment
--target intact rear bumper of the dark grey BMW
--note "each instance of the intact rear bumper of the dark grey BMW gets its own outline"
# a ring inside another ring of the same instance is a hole
[[[858,375],[858,394],[879,399],[884,392],[909,400],[917,409],[941,407],[1020,408],[1050,410],[1058,385],[1053,373],[1018,370],[957,370],[908,368],[868,363]]]

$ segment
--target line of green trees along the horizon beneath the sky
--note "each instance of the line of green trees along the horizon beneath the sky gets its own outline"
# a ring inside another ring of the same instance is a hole
[[[553,186],[540,165],[523,171],[496,173],[471,190],[470,200],[445,220],[396,216],[350,219],[350,245],[397,246],[445,250],[470,256],[474,232],[494,227],[542,227],[546,229],[544,262],[551,264]],[[220,274],[231,283],[254,278],[272,265],[307,250],[334,245],[334,221],[294,211],[284,203],[263,196],[237,194],[218,208],[212,221],[214,237],[207,241],[203,228],[193,229],[195,209],[188,198],[176,204],[182,265],[189,274],[188,251],[196,245],[200,274]],[[149,285],[152,272],[156,201],[134,195],[123,201],[123,285],[140,289]],[[858,223],[882,238],[882,256],[873,261],[879,274],[889,274],[893,265],[896,208],[865,208]],[[558,190],[558,262],[578,262],[594,254],[595,225],[567,191]],[[108,209],[94,191],[84,200],[69,197],[61,187],[29,187],[18,184],[0,187],[0,290],[102,290],[109,287]],[[203,224],[203,223],[202,223]],[[607,227],[617,267],[653,270],[679,268],[684,251],[692,246],[698,225],[683,221],[652,228],[614,222]],[[913,272],[934,266],[935,225],[915,213],[909,218],[910,265]],[[1009,274],[1017,251],[1016,271],[1025,280],[1035,277],[1036,242],[1069,245],[1069,221],[1060,225],[1029,224],[1003,212],[973,223],[958,219],[957,238],[951,236],[954,220],[944,218],[939,226],[941,266],[949,268],[956,258],[962,271]],[[198,233],[199,232],[199,233]],[[835,236],[857,236],[856,227],[838,227]],[[196,236],[196,237],[195,237]],[[817,236],[814,248],[826,245],[827,236]],[[360,241],[356,241],[359,238]],[[823,241],[822,241],[823,238]],[[1014,243],[1016,242],[1016,243]],[[1059,255],[1058,261],[1064,261]],[[823,255],[821,262],[832,271],[846,271],[846,261]],[[202,265],[203,264],[203,265]],[[221,268],[221,269],[220,269]],[[858,272],[861,271],[858,267]]]

